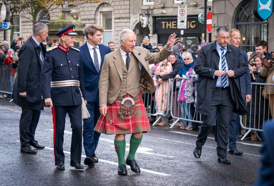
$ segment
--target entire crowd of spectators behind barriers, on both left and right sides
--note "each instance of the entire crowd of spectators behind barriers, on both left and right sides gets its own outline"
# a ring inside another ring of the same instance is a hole
[[[29,34],[28,38],[31,36],[32,33]],[[2,70],[0,71],[2,75],[1,77],[5,77],[0,80],[2,85],[1,88],[3,88],[3,85],[9,84],[8,91],[10,92],[13,90],[13,84],[17,75],[18,52],[24,42],[25,39],[18,35],[10,45],[7,41],[3,41],[0,44],[0,63],[6,65],[6,69],[3,69],[2,67]],[[50,48],[53,46],[58,46],[59,42],[54,40],[54,42],[44,42],[44,44],[47,48]],[[114,42],[108,42],[108,46],[111,51],[115,50]],[[152,53],[158,53],[164,47],[163,44],[157,44],[157,48],[153,48],[150,37],[144,37],[139,46],[144,47],[148,50],[148,52]],[[176,78],[176,83],[174,83],[174,92],[176,93],[175,95],[173,93],[173,96],[178,102],[178,105],[171,109],[176,110],[176,107],[178,106],[177,111],[179,110],[180,114],[177,116],[186,119],[181,120],[178,123],[178,125],[181,126],[180,129],[198,129],[196,123],[190,120],[193,120],[192,116],[195,115],[195,81],[197,81],[198,75],[195,74],[193,69],[198,58],[200,48],[200,46],[195,44],[189,46],[182,40],[177,40],[171,49],[173,53],[170,54],[167,59],[159,62],[158,64],[149,65],[150,74],[154,76],[153,80],[156,87],[154,94],[143,95],[145,106],[150,108],[150,113],[153,114],[151,115],[150,122],[154,122],[157,116],[169,116],[169,119],[171,119],[170,114],[166,113],[168,107],[169,82],[172,81],[173,78]],[[274,57],[274,54],[272,54],[272,57]],[[271,61],[271,54],[267,52],[266,41],[260,40],[257,42],[255,45],[255,51],[247,52],[247,58],[249,60],[251,82],[273,83],[272,77],[274,75],[274,68],[273,62]],[[6,74],[4,75],[3,73]],[[185,79],[179,80],[179,77],[183,77]],[[265,95],[262,94],[262,88]],[[0,93],[0,98],[10,99],[10,95]],[[261,129],[263,127],[264,120],[267,120],[270,117],[273,118],[273,102],[274,86],[263,87],[253,85],[251,102],[247,104],[250,108],[251,114],[246,117],[246,126]],[[167,126],[165,120],[159,120],[158,124]]]

